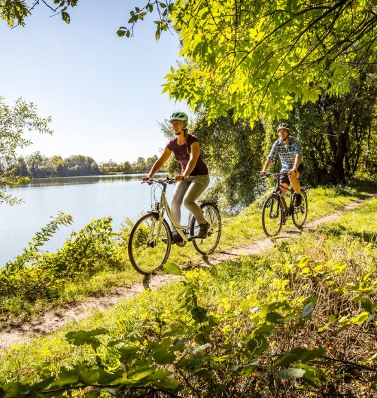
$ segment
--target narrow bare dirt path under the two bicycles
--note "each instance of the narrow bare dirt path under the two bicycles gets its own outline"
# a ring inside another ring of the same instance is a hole
[[[356,208],[364,201],[365,199],[359,199],[345,206],[339,212],[311,221],[306,224],[304,229],[313,229],[321,223],[332,221],[340,214]],[[284,238],[291,237],[292,234],[298,233],[297,229],[287,229],[287,227],[285,227],[285,229],[282,229],[282,234],[280,234],[277,240],[283,240]],[[195,265],[210,266],[225,260],[236,260],[241,255],[250,256],[252,254],[262,253],[272,246],[273,242],[270,239],[262,238],[252,242],[250,245],[237,247],[236,249],[230,249],[228,251],[219,251],[210,256],[210,258],[202,260]],[[60,327],[63,327],[69,323],[69,321],[80,321],[80,319],[84,319],[86,316],[89,316],[93,310],[104,311],[121,299],[132,299],[132,297],[142,293],[145,288],[156,290],[159,286],[167,284],[174,279],[177,279],[177,277],[164,273],[153,275],[152,277],[145,278],[143,282],[136,283],[129,287],[119,286],[113,288],[110,293],[104,297],[90,297],[82,303],[74,303],[71,306],[45,312],[45,314],[42,314],[38,319],[32,321],[1,325],[0,349],[23,343],[27,338],[51,333],[60,329]]]

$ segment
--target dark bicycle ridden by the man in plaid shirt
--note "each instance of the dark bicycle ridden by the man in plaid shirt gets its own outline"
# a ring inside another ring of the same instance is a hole
[[[265,200],[262,210],[263,231],[268,237],[277,236],[289,216],[292,216],[293,224],[298,229],[303,227],[308,216],[306,187],[301,187],[302,203],[300,206],[295,206],[295,191],[293,188],[287,188],[285,195],[280,189],[280,176],[288,174],[286,171],[265,174],[265,177],[276,177],[276,186]],[[287,203],[286,197],[289,197],[289,203]]]

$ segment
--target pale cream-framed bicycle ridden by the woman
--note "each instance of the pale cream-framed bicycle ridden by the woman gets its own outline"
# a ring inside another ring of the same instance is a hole
[[[136,221],[132,227],[128,240],[128,255],[134,269],[147,275],[158,271],[167,262],[171,249],[171,230],[164,217],[166,212],[171,225],[182,238],[177,243],[184,247],[187,242],[193,242],[195,249],[207,256],[215,251],[221,236],[221,216],[217,208],[216,199],[199,201],[200,208],[210,223],[210,229],[205,238],[198,238],[199,225],[195,217],[189,212],[189,220],[186,225],[180,225],[175,221],[166,198],[168,184],[175,184],[173,178],[149,179],[147,184],[154,188],[161,188],[160,198],[154,194],[154,208]]]

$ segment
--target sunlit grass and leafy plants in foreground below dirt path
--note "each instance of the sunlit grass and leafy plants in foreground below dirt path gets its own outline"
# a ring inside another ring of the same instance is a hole
[[[0,385],[18,380],[3,388],[31,394],[92,386],[86,393],[372,397],[375,225],[377,199],[261,256],[192,269],[3,351]]]

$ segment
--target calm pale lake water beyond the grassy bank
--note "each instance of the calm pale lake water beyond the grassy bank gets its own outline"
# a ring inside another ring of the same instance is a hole
[[[22,253],[35,232],[49,223],[58,212],[71,214],[73,224],[60,227],[53,238],[42,246],[43,251],[55,251],[62,247],[73,231],[78,231],[93,219],[111,216],[115,231],[120,229],[126,217],[136,220],[142,211],[151,208],[151,187],[141,184],[142,177],[106,175],[43,178],[33,179],[27,185],[8,188],[8,193],[23,199],[24,203],[12,207],[0,206],[0,266]],[[169,200],[173,188],[173,185],[167,187]],[[182,222],[187,214],[182,212]]]

